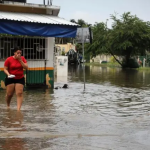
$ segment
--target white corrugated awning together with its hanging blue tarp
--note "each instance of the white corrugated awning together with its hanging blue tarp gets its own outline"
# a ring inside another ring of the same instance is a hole
[[[4,34],[75,37],[77,27],[56,16],[0,11],[0,33]]]

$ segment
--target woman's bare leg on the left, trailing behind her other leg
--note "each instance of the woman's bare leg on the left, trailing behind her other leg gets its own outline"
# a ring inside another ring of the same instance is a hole
[[[15,84],[9,84],[6,86],[6,103],[7,103],[7,107],[10,107],[10,102],[11,102],[11,98],[14,95],[14,91],[15,91]]]

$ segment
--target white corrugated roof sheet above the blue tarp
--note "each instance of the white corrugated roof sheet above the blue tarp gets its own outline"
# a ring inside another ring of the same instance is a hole
[[[22,22],[42,23],[42,24],[78,26],[77,24],[67,21],[63,18],[57,16],[51,16],[51,15],[43,15],[43,14],[29,14],[29,13],[0,11],[0,20],[2,19],[22,21]]]

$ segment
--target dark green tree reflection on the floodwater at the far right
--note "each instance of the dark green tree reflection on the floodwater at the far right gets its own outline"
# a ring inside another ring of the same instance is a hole
[[[73,81],[83,81],[83,66],[71,66],[69,76]],[[145,87],[150,85],[150,71],[136,69],[85,66],[86,82],[108,84],[121,87]]]

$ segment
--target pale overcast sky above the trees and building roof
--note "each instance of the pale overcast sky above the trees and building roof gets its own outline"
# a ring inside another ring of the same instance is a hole
[[[47,0],[45,0],[47,2]],[[27,0],[28,3],[42,4],[43,0]],[[150,21],[150,0],[53,0],[53,5],[60,6],[59,17],[83,19],[88,23],[105,22],[110,14],[130,11],[144,21]],[[109,26],[111,21],[109,21]]]

